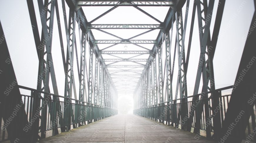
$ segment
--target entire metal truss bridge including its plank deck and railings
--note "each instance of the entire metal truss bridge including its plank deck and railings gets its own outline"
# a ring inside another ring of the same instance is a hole
[[[26,40],[35,44],[39,61],[38,69],[34,69],[38,72],[37,85],[33,89],[18,84],[11,61],[15,57],[9,52],[8,36],[5,37],[1,21],[0,142],[256,141],[255,12],[234,85],[215,87],[213,59],[215,49],[219,48],[225,3],[225,0],[26,0],[34,37]],[[85,13],[84,8],[93,6],[111,8],[88,21],[85,15],[90,13]],[[168,8],[164,20],[143,10],[152,6]],[[94,23],[119,7],[135,8],[157,24]],[[144,31],[122,38],[109,29]],[[59,35],[54,35],[54,31]],[[95,31],[109,37],[97,39]],[[140,39],[153,31],[158,32],[156,38]],[[193,39],[193,35],[199,35],[199,39]],[[61,63],[54,61],[53,37],[59,39]],[[199,46],[192,46],[192,42]],[[137,48],[129,50],[127,45]],[[189,58],[195,49],[200,51],[199,59]],[[193,94],[188,93],[187,86],[189,61],[198,63],[193,75]],[[63,66],[64,94],[59,94],[56,75],[60,73],[56,72],[56,65]],[[131,93],[134,115],[117,115],[118,97]]]

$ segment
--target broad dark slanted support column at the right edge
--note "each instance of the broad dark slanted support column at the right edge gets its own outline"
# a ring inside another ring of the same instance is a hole
[[[255,27],[255,21],[256,12],[254,12],[250,27]],[[240,143],[242,139],[245,139],[245,130],[250,125],[249,118],[255,116],[253,110],[256,103],[255,37],[256,31],[249,31],[225,115],[222,136],[219,140],[225,143]]]

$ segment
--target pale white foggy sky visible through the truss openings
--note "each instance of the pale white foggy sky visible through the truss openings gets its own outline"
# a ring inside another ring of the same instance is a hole
[[[253,0],[245,0],[245,1],[246,2],[244,6],[241,8],[242,1],[226,0],[224,14],[222,18],[222,24],[220,27],[220,38],[218,39],[218,42],[217,42],[217,48],[216,48],[215,57],[213,60],[216,89],[221,87],[226,87],[228,85],[233,85],[235,81],[235,76],[240,63],[243,47],[245,45],[245,39],[243,39],[243,37],[244,35],[247,34],[249,30],[250,22],[254,12]],[[191,21],[191,15],[192,15],[193,1],[190,1],[190,2],[191,3],[189,7],[189,16],[188,16],[187,32],[185,37],[185,45],[187,45],[188,43],[190,21]],[[213,11],[214,14],[212,15],[212,18],[213,18],[212,21],[215,20],[217,2],[218,1],[215,1],[215,8]],[[60,15],[63,15],[61,1],[58,0],[58,3],[59,3]],[[41,29],[40,15],[39,15],[38,4],[36,0],[34,0],[34,7],[36,11],[37,23],[38,23],[39,29]],[[87,17],[87,20],[91,21],[112,7],[88,6],[88,7],[82,7],[82,8]],[[169,7],[141,6],[140,8],[163,22]],[[239,9],[240,11],[238,11]],[[68,14],[67,5],[66,5],[66,11]],[[184,13],[185,11],[183,8],[183,14]],[[237,16],[234,19],[232,19],[231,16],[234,14],[236,14]],[[197,65],[198,65],[199,54],[200,54],[197,14],[195,18],[196,19],[195,19],[195,25],[194,25],[194,34],[192,37],[191,53],[190,53],[188,71],[187,71],[188,95],[192,95],[193,93],[193,89],[195,85],[195,77],[197,72]],[[65,39],[63,16],[61,16],[60,19],[61,19],[61,23],[63,23],[61,25],[62,34],[63,34],[62,37],[63,39]],[[29,19],[29,13],[28,13],[26,1],[17,1],[17,0],[0,1],[0,20],[6,36],[6,42],[8,44],[8,48],[9,48],[10,56],[14,66],[14,71],[16,73],[18,84],[36,89],[37,73],[38,73],[38,58],[36,55],[34,37],[31,29],[31,23]],[[54,16],[54,20],[56,21],[56,15]],[[148,17],[144,13],[138,11],[136,8],[132,6],[120,6],[114,9],[113,11],[111,11],[110,13],[104,15],[102,18],[96,20],[92,24],[159,24],[159,23],[153,20],[152,18]],[[211,34],[213,31],[213,26],[214,25],[212,23],[210,28]],[[65,75],[64,75],[64,69],[63,69],[63,64],[61,59],[57,23],[54,23],[53,29],[54,31],[53,31],[53,43],[52,43],[52,46],[53,46],[52,55],[53,55],[53,61],[54,61],[54,68],[56,72],[56,80],[57,80],[57,86],[59,89],[59,94],[64,96]],[[140,34],[142,32],[145,32],[147,30],[105,29],[104,31],[112,33],[121,38],[127,39],[137,34]],[[98,30],[92,30],[92,32],[94,34],[95,39],[98,39],[98,40],[100,39],[118,40],[118,38],[107,35]],[[158,32],[159,30],[153,30],[152,32],[149,32],[145,35],[136,37],[133,40],[138,40],[138,39],[155,40],[158,35]],[[174,55],[173,49],[174,49],[174,42],[175,42],[175,39],[174,39],[175,32],[176,30],[174,28],[172,45],[171,45],[172,57]],[[76,30],[76,34],[78,37],[79,36],[78,28]],[[65,40],[64,40],[64,45],[67,45],[67,41]],[[77,45],[79,46],[78,39],[77,39]],[[99,49],[103,49],[109,45],[110,44],[98,44]],[[145,47],[146,49],[140,48],[132,44],[119,44],[106,49],[106,51],[144,51],[147,49],[150,50],[153,47],[153,44],[139,44],[139,45]],[[127,48],[125,46],[127,46]],[[78,49],[78,52],[80,52],[80,48],[77,48],[77,49]],[[66,48],[64,48],[64,51],[66,53]],[[88,53],[89,52],[87,51],[87,54]],[[185,54],[187,55],[187,51],[185,52]],[[122,58],[129,58],[136,55],[137,54],[129,54],[129,55],[113,54],[113,56],[111,55],[102,55],[102,56],[104,59],[107,59],[107,58],[116,59],[117,57],[115,56],[121,56]],[[145,54],[145,55],[137,56],[134,58],[146,59],[148,57],[149,55]],[[176,58],[177,58],[177,53],[176,53]],[[88,59],[88,55],[87,55],[87,59]],[[80,62],[80,57],[79,57],[79,62]],[[109,64],[109,63],[111,62],[106,62],[106,64]],[[145,64],[145,62],[138,62],[138,63]],[[74,60],[74,65],[76,64],[77,64],[76,60]],[[135,64],[133,62],[119,62],[113,65],[139,65],[139,64]],[[108,69],[118,70],[117,68],[108,68]],[[132,68],[122,68],[122,69],[128,70]],[[140,70],[140,69],[143,69],[143,68],[133,68],[132,70]],[[124,74],[124,73],[120,72],[118,74]],[[134,74],[134,73],[125,72],[125,74]],[[75,77],[76,85],[79,85],[76,68],[74,68],[74,77]],[[125,108],[125,111],[130,112],[129,110],[132,110],[132,107],[133,107],[131,106],[130,108],[130,104],[132,104],[133,102],[132,96],[134,92],[132,90],[134,89],[134,86],[133,84],[131,84],[131,82],[134,82],[134,81],[136,82],[136,80],[129,79],[129,80],[120,80],[120,81],[122,81],[121,85],[126,85],[126,87],[125,88],[118,87],[120,88],[118,89],[118,91],[120,91],[119,105],[124,105],[126,104],[125,102],[129,103],[127,104],[127,106],[122,106],[122,108]],[[177,81],[177,63],[174,66],[173,89],[176,89],[175,87],[176,81]],[[128,86],[128,85],[131,85],[131,86]],[[200,84],[200,87],[202,88],[202,84]],[[50,90],[53,91],[52,86],[50,86]],[[79,86],[77,86],[76,91],[78,93]],[[175,92],[175,90],[173,90],[173,92]]]

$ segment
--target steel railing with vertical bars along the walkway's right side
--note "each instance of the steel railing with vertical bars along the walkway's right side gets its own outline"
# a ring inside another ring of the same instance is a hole
[[[182,99],[137,108],[133,113],[162,123],[165,121],[166,124],[186,131],[191,131],[193,128],[194,133],[205,130],[206,134],[209,132],[210,135],[216,132],[219,134],[231,97],[231,94],[222,95],[222,91],[231,88],[232,86],[228,86]],[[214,128],[213,123],[216,127],[219,125],[219,129]]]

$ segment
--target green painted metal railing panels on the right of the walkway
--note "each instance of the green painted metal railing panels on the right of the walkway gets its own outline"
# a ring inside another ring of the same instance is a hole
[[[231,97],[231,95],[222,95],[221,92],[227,89],[232,89],[232,86],[229,87],[224,87],[221,89],[216,89],[214,91],[210,91],[210,92],[205,92],[205,93],[201,93],[201,94],[196,94],[196,95],[192,95],[189,97],[186,97],[185,99],[187,99],[187,102],[182,102],[182,100],[184,100],[184,98],[180,98],[180,99],[174,99],[174,104],[170,104],[171,101],[167,101],[164,103],[159,103],[159,104],[154,104],[154,105],[150,105],[150,106],[144,106],[141,108],[137,108],[133,111],[133,113],[135,115],[138,116],[142,116],[145,118],[149,118],[151,120],[155,120],[158,121],[160,123],[164,123],[164,121],[166,123],[170,123],[169,125],[174,126],[176,128],[179,128],[179,125],[181,125],[182,128],[198,128],[196,123],[200,123],[199,129],[200,130],[205,130],[207,131],[207,128],[209,127],[211,129],[212,133],[216,133],[213,130],[213,122],[207,122],[207,120],[211,119],[211,120],[221,120],[221,126],[223,126],[223,118],[225,118],[225,113],[227,111],[227,107],[228,107],[228,102],[229,102],[229,98]],[[205,99],[200,99],[200,97],[208,95],[208,94],[215,94],[215,97],[208,97]],[[192,101],[192,98],[197,98],[197,100]],[[211,118],[208,118],[207,116],[203,116],[205,115],[205,113],[207,112],[206,107],[204,107],[203,105],[205,103],[210,103],[210,102],[216,102],[214,104],[214,107],[212,109],[214,109],[214,111],[218,111],[216,113],[213,113]],[[221,104],[220,104],[221,103]],[[194,105],[191,107],[191,105]],[[203,108],[201,108],[203,107]],[[188,110],[189,114],[186,114],[184,116],[178,116],[177,114],[179,110]],[[202,118],[194,118],[193,120],[190,120],[191,116],[193,116],[195,113],[200,113],[202,112],[202,114],[200,116],[202,116]],[[192,114],[194,113],[194,114]],[[175,115],[174,115],[175,114]],[[173,118],[174,117],[174,118]],[[176,117],[176,118],[175,118]],[[192,124],[190,124],[190,122]],[[216,122],[216,121],[215,121]],[[216,130],[217,131],[217,130]],[[199,134],[200,135],[200,134]]]

